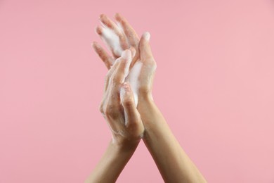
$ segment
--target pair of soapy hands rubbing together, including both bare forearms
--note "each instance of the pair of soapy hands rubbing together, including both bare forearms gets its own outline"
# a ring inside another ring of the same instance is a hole
[[[141,39],[122,15],[116,23],[100,15],[96,32],[112,56],[96,42],[93,49],[109,69],[100,111],[112,141],[86,182],[115,182],[143,137],[164,182],[207,182],[183,151],[152,99],[156,63],[145,32]],[[145,134],[143,136],[145,130]]]

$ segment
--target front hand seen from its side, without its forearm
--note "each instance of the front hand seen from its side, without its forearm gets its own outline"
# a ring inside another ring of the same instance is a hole
[[[143,136],[143,123],[136,109],[129,83],[124,82],[131,64],[131,51],[122,52],[105,78],[105,92],[100,112],[112,131],[112,142],[136,145]]]

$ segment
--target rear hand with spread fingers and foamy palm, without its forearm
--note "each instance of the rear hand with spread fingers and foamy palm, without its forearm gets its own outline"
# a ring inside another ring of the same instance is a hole
[[[93,49],[108,69],[113,65],[115,58],[121,54],[121,51],[129,48],[135,49],[131,70],[125,80],[131,84],[137,106],[138,101],[152,100],[152,82],[156,63],[149,45],[150,34],[145,32],[139,41],[138,35],[122,15],[117,13],[115,20],[117,24],[106,15],[100,15],[102,26],[96,27],[96,32],[112,51],[113,57],[109,56],[97,42],[93,42]]]

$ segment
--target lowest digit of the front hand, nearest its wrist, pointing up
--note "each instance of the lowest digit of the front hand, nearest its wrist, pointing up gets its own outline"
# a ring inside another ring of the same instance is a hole
[[[125,125],[129,130],[133,130],[136,134],[141,134],[143,131],[143,124],[141,122],[140,114],[137,111],[133,92],[129,83],[124,82],[120,89],[120,100],[124,108]]]

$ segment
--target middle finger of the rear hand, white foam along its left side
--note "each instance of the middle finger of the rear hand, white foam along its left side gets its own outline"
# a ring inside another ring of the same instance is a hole
[[[110,33],[110,30],[111,30],[114,34],[117,35],[118,37],[117,41],[119,46],[121,46],[123,50],[129,49],[129,43],[126,39],[126,35],[114,22],[112,22],[112,20],[110,20],[110,18],[107,17],[107,15],[104,15],[104,14],[100,15],[100,22],[102,23],[102,25],[104,25],[103,37],[108,37],[108,34]],[[121,55],[117,55],[115,53],[115,56],[121,56]]]

